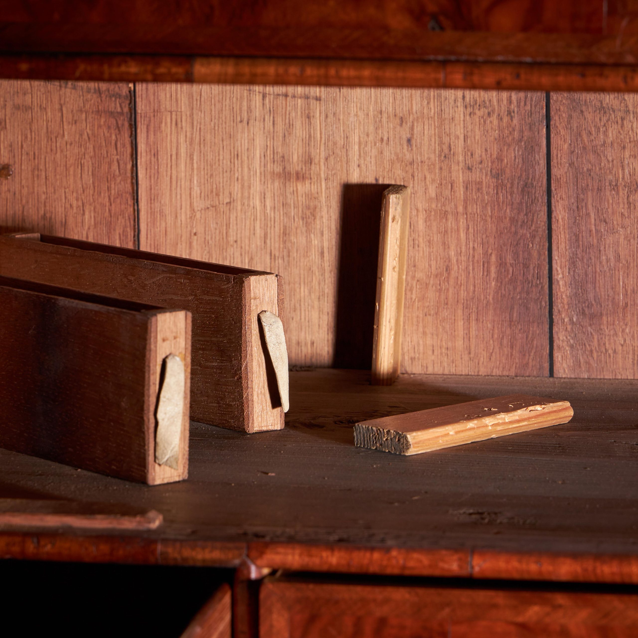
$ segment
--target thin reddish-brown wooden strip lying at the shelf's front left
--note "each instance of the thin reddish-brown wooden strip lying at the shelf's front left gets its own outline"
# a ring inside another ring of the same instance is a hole
[[[133,510],[133,511],[129,511]],[[77,528],[98,530],[156,530],[163,517],[156,510],[77,501],[27,498],[0,499],[0,530],[19,528]]]

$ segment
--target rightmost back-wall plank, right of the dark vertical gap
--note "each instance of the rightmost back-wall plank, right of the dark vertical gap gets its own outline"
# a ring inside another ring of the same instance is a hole
[[[638,376],[637,108],[551,97],[556,376]]]

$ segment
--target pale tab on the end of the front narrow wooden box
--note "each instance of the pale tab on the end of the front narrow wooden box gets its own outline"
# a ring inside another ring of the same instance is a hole
[[[158,431],[155,436],[155,462],[177,470],[179,440],[184,415],[184,364],[177,355],[164,359],[164,383],[159,391]]]

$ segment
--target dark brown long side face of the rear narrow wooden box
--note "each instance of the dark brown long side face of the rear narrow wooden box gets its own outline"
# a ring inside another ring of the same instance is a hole
[[[0,238],[0,274],[190,311],[191,417],[244,429],[243,277],[11,237]]]

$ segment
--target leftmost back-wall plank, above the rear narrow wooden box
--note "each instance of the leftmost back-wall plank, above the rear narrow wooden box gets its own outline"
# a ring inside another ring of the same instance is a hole
[[[133,246],[128,84],[0,81],[0,230]]]

